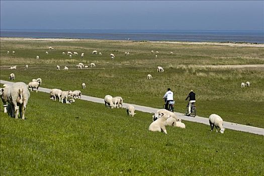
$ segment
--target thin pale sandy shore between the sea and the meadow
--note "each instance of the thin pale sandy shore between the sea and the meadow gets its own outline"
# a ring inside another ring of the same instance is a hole
[[[62,39],[62,38],[9,38],[1,37],[1,41],[49,41],[49,42],[66,42],[66,41],[98,41],[96,39]],[[102,41],[102,40],[100,40]],[[115,40],[132,42],[127,40]],[[232,46],[232,47],[262,47],[264,44],[251,44],[251,43],[220,43],[220,42],[171,42],[171,41],[149,41],[151,43],[171,43],[171,44],[185,44],[185,45],[222,45],[222,46]]]

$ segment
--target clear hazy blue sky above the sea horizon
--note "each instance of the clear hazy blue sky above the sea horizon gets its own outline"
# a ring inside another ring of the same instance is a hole
[[[264,1],[3,1],[1,29],[264,30]]]

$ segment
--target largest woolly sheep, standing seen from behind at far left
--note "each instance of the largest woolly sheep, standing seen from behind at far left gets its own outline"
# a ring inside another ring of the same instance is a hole
[[[11,117],[15,116],[15,118],[18,119],[18,114],[20,113],[22,120],[25,120],[26,106],[30,98],[27,84],[24,82],[15,82],[10,85],[7,91],[7,97],[9,105],[11,106]]]

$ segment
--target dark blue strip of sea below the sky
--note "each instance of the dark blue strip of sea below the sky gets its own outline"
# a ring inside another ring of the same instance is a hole
[[[1,29],[0,32],[1,37],[264,43],[264,31]]]

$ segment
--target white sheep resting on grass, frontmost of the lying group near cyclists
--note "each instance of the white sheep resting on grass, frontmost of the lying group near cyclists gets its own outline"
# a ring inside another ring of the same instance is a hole
[[[159,131],[159,132],[163,131],[165,134],[167,134],[165,125],[166,125],[166,120],[169,117],[170,116],[168,114],[161,113],[161,116],[149,125],[148,130]]]

